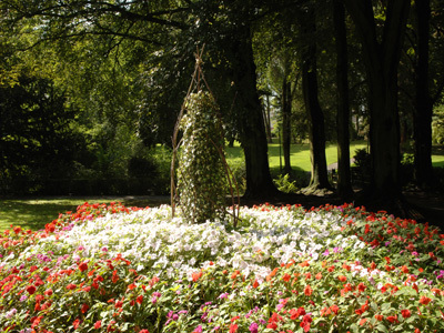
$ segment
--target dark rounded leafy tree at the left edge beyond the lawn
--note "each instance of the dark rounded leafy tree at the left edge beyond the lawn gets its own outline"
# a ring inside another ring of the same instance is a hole
[[[13,87],[0,88],[3,194],[44,190],[46,180],[73,172],[82,140],[71,130],[72,111],[48,79],[22,74]]]

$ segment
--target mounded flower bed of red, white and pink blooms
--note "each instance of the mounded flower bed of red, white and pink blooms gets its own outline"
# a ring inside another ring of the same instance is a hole
[[[84,204],[0,238],[3,332],[442,332],[444,234],[364,208]]]

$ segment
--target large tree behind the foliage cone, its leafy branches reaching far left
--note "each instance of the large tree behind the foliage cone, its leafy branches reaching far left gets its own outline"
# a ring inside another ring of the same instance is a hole
[[[150,69],[169,67],[169,75],[155,82],[159,85],[171,82],[171,78],[178,82],[176,73],[181,75],[186,72],[183,64],[193,59],[195,43],[204,42],[214,46],[213,50],[223,50],[223,65],[228,69],[224,77],[233,82],[236,94],[234,110],[239,138],[245,152],[246,194],[260,195],[275,191],[269,171],[262,110],[255,84],[251,24],[259,8],[253,2],[47,0],[36,3],[9,0],[2,3],[1,9],[8,11],[12,19],[3,22],[11,22],[8,28],[12,33],[24,33],[24,30],[33,27],[33,34],[38,36],[37,43],[60,41],[60,49],[64,51],[75,46],[75,41],[97,40],[94,44],[98,48],[103,46],[107,57],[127,50],[134,54],[134,65],[144,63]],[[202,31],[206,29],[212,33],[203,34]],[[162,57],[169,53],[175,57],[172,67],[163,62],[171,59]],[[182,89],[184,87],[179,85]],[[168,91],[165,87],[158,94],[159,99],[154,99],[159,101],[158,105],[171,100],[171,93],[178,92]],[[184,89],[182,92],[185,92]],[[159,114],[162,111],[172,113],[174,103],[167,105],[155,110],[158,119],[161,119]],[[140,120],[147,124],[140,127],[145,142],[157,140],[155,135],[148,135],[147,128],[152,128],[153,123],[150,117],[142,114]]]

